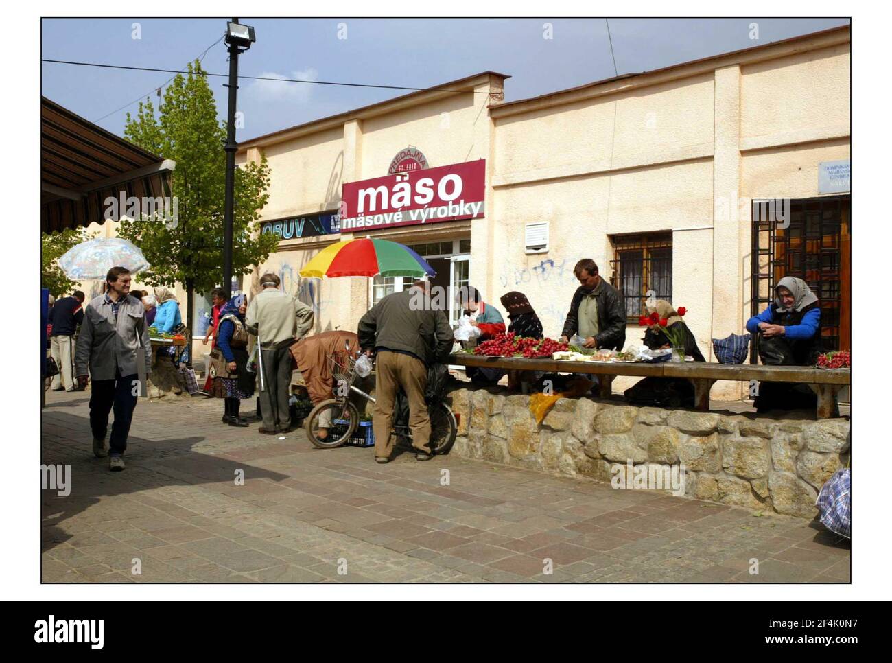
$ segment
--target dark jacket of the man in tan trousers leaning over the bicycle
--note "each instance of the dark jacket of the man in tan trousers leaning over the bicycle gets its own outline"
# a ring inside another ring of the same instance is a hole
[[[417,296],[417,288],[412,287],[377,302],[359,320],[359,346],[409,352],[428,366],[446,361],[453,339],[449,319],[445,311],[434,311],[430,305],[414,307]]]

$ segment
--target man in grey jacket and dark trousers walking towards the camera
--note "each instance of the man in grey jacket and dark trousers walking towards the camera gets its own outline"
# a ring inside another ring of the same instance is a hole
[[[127,436],[136,398],[140,392],[140,376],[144,361],[145,375],[152,371],[152,345],[145,324],[142,302],[131,297],[130,272],[112,267],[105,277],[106,292],[87,304],[74,356],[78,384],[87,386],[93,379],[90,395],[90,428],[93,431],[93,453],[106,454],[105,433],[109,412],[114,409],[109,440],[109,469],[124,469],[122,456],[127,450]]]

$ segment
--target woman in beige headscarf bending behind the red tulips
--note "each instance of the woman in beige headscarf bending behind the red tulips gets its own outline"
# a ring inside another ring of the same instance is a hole
[[[678,312],[673,309],[671,303],[657,299],[648,303],[647,310],[648,314],[656,312],[661,319],[665,319],[668,323],[666,327],[672,329],[673,333],[676,330],[681,331],[685,355],[690,355],[694,361],[706,361],[703,352],[700,352],[697,345],[697,339]],[[658,325],[648,325],[641,341],[651,350],[672,347],[669,337]],[[691,385],[683,377],[645,377],[625,390],[625,399],[635,405],[692,408],[694,407],[694,385]]]

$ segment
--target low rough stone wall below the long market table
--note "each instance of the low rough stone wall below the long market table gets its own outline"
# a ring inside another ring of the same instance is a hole
[[[774,419],[562,398],[537,425],[530,397],[500,387],[460,388],[450,399],[461,415],[459,456],[607,483],[630,460],[659,471],[683,463],[687,496],[764,513],[814,517],[818,490],[849,457],[848,419],[803,412]]]

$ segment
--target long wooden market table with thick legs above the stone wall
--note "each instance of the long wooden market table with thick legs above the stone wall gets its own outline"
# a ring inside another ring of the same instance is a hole
[[[598,394],[607,398],[616,376],[681,377],[694,386],[697,410],[709,410],[709,391],[716,380],[750,380],[793,382],[809,385],[818,396],[817,417],[835,416],[839,391],[852,384],[851,369],[818,369],[810,366],[760,366],[753,364],[716,364],[703,361],[674,363],[625,361],[558,361],[552,359],[524,359],[520,357],[491,357],[467,352],[450,355],[450,364],[480,366],[491,369],[538,370],[549,373],[584,373],[599,376]]]

